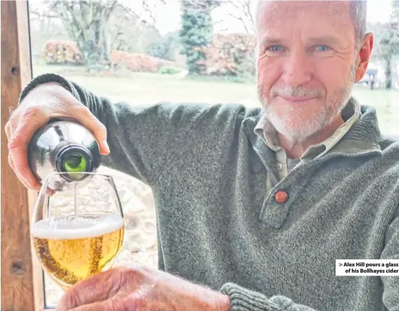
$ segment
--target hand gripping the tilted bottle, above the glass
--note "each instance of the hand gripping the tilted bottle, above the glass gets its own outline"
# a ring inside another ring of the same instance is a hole
[[[52,118],[75,119],[90,130],[100,146],[100,153],[107,155],[107,130],[90,110],[79,103],[63,86],[54,83],[41,84],[22,100],[6,123],[8,162],[26,188],[40,189],[28,162],[28,144],[35,132]]]

